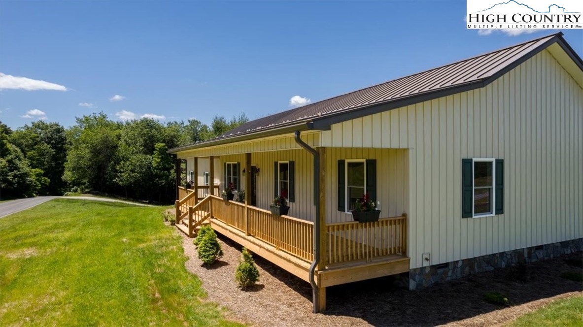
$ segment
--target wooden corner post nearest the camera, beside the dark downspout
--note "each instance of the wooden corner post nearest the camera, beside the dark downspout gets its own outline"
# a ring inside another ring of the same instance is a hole
[[[318,213],[318,219],[320,224],[319,233],[319,248],[320,248],[320,259],[318,262],[317,270],[324,270],[326,266],[326,148],[318,147],[318,154],[320,157],[320,171],[319,171],[319,184],[320,184],[320,194],[319,194],[319,207],[320,212]],[[316,173],[314,171],[314,173]],[[318,279],[319,280],[319,279]],[[319,287],[319,285],[318,285]],[[319,312],[326,310],[326,287],[319,287],[318,290],[318,303]]]

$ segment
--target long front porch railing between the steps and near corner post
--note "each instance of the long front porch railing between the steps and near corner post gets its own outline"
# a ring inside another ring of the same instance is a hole
[[[314,259],[314,223],[288,216],[274,216],[271,212],[234,201],[210,196],[212,215],[229,226],[273,245],[281,251],[311,262]],[[245,226],[247,210],[247,226]]]

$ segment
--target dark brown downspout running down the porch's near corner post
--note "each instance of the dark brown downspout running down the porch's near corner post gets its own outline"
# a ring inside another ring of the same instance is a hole
[[[309,146],[308,143],[305,143],[303,140],[300,139],[300,131],[296,131],[294,133],[294,139],[296,143],[303,147],[304,149],[308,150],[314,156],[314,204],[316,206],[316,215],[320,213],[320,201],[319,201],[319,194],[320,194],[320,178],[319,178],[319,171],[320,171],[320,155],[318,151],[315,150],[313,147]],[[314,274],[316,270],[316,266],[320,261],[320,242],[319,242],[319,235],[320,235],[320,220],[317,217],[314,220],[314,261],[310,265],[310,272],[309,272],[309,279],[310,284],[312,286],[312,303],[314,304],[314,309],[312,310],[314,313],[318,312],[319,308],[319,289],[316,285],[316,281],[314,279]]]

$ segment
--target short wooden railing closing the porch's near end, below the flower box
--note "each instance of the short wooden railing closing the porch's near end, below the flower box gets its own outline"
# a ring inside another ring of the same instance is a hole
[[[407,217],[381,218],[370,223],[326,224],[326,262],[339,263],[405,254]]]

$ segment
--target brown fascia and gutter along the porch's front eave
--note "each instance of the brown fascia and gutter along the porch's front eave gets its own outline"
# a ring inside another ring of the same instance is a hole
[[[234,136],[227,136],[227,137],[221,138],[221,139],[208,140],[205,142],[174,147],[173,149],[168,150],[166,153],[178,153],[178,152],[182,152],[182,151],[201,149],[202,147],[224,145],[224,144],[233,143],[233,142],[241,142],[241,141],[246,141],[246,140],[265,138],[268,136],[283,135],[283,134],[287,134],[287,133],[293,133],[295,131],[303,132],[303,131],[308,131],[310,129],[313,129],[312,123],[304,121],[304,122],[300,122],[300,123],[293,124],[293,125],[278,126],[278,127],[269,128],[269,129],[264,128],[264,129],[260,129],[259,131],[256,131],[256,132],[252,131],[252,132],[248,132],[248,133],[241,133],[241,134],[234,135]]]

